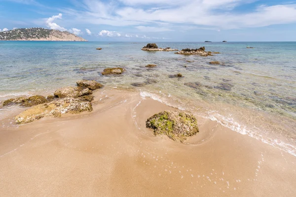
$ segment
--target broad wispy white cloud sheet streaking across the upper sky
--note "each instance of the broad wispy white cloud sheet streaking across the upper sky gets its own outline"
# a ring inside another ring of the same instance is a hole
[[[118,6],[118,1],[123,6]],[[150,32],[183,30],[181,26],[184,24],[217,31],[296,23],[296,4],[293,3],[263,5],[248,12],[233,11],[238,6],[254,1],[256,0],[82,0],[79,6],[83,7],[83,11],[70,8],[63,11],[76,22],[84,24],[133,25],[141,31]]]

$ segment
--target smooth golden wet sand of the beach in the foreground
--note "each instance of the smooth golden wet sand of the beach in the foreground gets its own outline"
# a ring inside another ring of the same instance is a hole
[[[146,119],[177,109],[134,91],[94,95],[91,113],[0,127],[1,197],[296,196],[296,157],[199,117],[184,144],[154,136]]]

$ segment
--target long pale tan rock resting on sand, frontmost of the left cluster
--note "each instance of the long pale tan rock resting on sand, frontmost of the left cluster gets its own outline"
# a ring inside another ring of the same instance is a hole
[[[45,116],[60,117],[62,114],[77,114],[84,111],[92,111],[92,106],[89,101],[81,101],[75,98],[63,98],[31,107],[16,116],[15,121],[16,123],[29,123]]]

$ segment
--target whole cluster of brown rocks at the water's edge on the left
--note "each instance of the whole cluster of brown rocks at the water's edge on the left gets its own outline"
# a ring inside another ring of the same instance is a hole
[[[103,85],[95,80],[79,80],[76,83],[77,87],[62,87],[54,92],[54,96],[47,96],[47,99],[40,95],[29,98],[18,97],[4,101],[3,106],[20,104],[31,107],[15,117],[17,123],[29,123],[45,116],[60,117],[67,113],[92,111],[91,101],[94,99],[92,90],[102,88]]]

